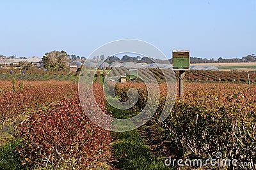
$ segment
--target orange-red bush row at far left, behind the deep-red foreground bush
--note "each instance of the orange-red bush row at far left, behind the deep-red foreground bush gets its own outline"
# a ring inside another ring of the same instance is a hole
[[[22,81],[24,89],[6,90],[11,81],[0,81],[0,129],[38,108],[56,103],[77,91],[72,81]],[[16,84],[19,84],[17,81]],[[16,87],[17,88],[17,87]]]

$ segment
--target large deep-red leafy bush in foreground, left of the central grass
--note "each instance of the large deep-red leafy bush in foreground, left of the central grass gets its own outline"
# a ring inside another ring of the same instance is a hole
[[[19,153],[26,167],[86,169],[109,159],[110,132],[93,124],[77,94],[74,98],[35,111],[20,124]]]

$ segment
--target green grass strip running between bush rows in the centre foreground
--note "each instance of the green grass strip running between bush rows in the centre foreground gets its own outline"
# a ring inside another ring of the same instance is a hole
[[[109,105],[107,108],[115,118],[127,118],[134,115],[131,110],[118,110]],[[115,162],[118,169],[170,169],[164,165],[163,160],[157,159],[150,152],[137,130],[114,134],[115,142],[112,147],[115,159],[118,160]]]

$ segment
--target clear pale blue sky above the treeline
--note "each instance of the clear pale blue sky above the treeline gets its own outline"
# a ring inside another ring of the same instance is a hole
[[[140,39],[166,57],[256,54],[256,0],[1,1],[0,55],[42,57],[52,50],[87,57],[117,39]]]

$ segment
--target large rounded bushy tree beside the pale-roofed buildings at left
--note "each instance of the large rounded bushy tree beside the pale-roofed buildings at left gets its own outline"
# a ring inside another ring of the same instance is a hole
[[[52,51],[45,53],[43,62],[46,69],[60,70],[65,68],[66,62],[69,59],[70,55],[67,52]]]

